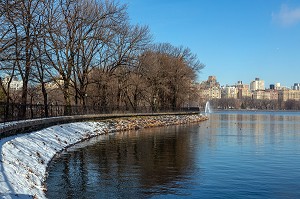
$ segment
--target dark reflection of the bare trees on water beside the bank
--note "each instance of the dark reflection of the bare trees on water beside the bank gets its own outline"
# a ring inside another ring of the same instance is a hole
[[[51,165],[48,197],[132,198],[173,193],[186,186],[188,173],[195,170],[187,130],[155,128],[95,138],[89,141],[91,145],[64,153]]]

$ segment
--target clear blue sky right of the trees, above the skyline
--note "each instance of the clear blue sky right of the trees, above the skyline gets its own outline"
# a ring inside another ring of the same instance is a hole
[[[300,82],[299,0],[120,0],[133,24],[155,43],[189,47],[206,65],[198,81],[221,85],[255,77],[290,87]]]

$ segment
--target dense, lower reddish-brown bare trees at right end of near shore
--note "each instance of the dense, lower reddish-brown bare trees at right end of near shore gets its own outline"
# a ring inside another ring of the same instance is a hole
[[[112,73],[97,69],[88,91],[92,105],[125,106],[136,111],[176,110],[193,96],[192,81],[203,65],[188,48],[158,44],[139,55],[134,67],[118,67]]]

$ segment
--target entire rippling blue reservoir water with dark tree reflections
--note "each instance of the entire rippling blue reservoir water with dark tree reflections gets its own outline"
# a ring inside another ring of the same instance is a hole
[[[48,172],[48,198],[300,198],[300,113],[216,112],[103,135]]]

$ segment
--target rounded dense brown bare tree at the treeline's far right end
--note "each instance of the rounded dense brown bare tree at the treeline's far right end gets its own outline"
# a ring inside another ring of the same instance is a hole
[[[204,67],[188,48],[154,45],[140,59],[152,109],[177,109],[189,100],[192,82]]]

